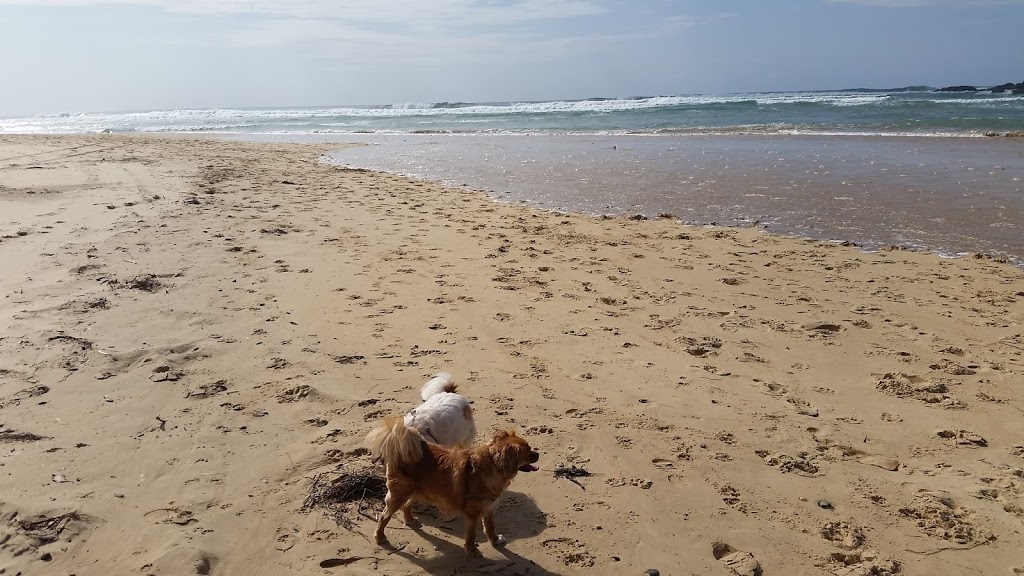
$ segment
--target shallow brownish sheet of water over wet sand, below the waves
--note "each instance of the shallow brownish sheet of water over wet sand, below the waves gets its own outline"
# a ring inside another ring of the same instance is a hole
[[[333,155],[589,214],[985,252],[1024,265],[1024,141],[910,136],[367,135]]]

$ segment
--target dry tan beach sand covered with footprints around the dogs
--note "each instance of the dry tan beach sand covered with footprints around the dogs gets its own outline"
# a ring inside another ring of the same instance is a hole
[[[0,573],[1024,572],[1022,271],[328,150],[0,138]],[[507,549],[304,510],[441,369],[542,452]]]

